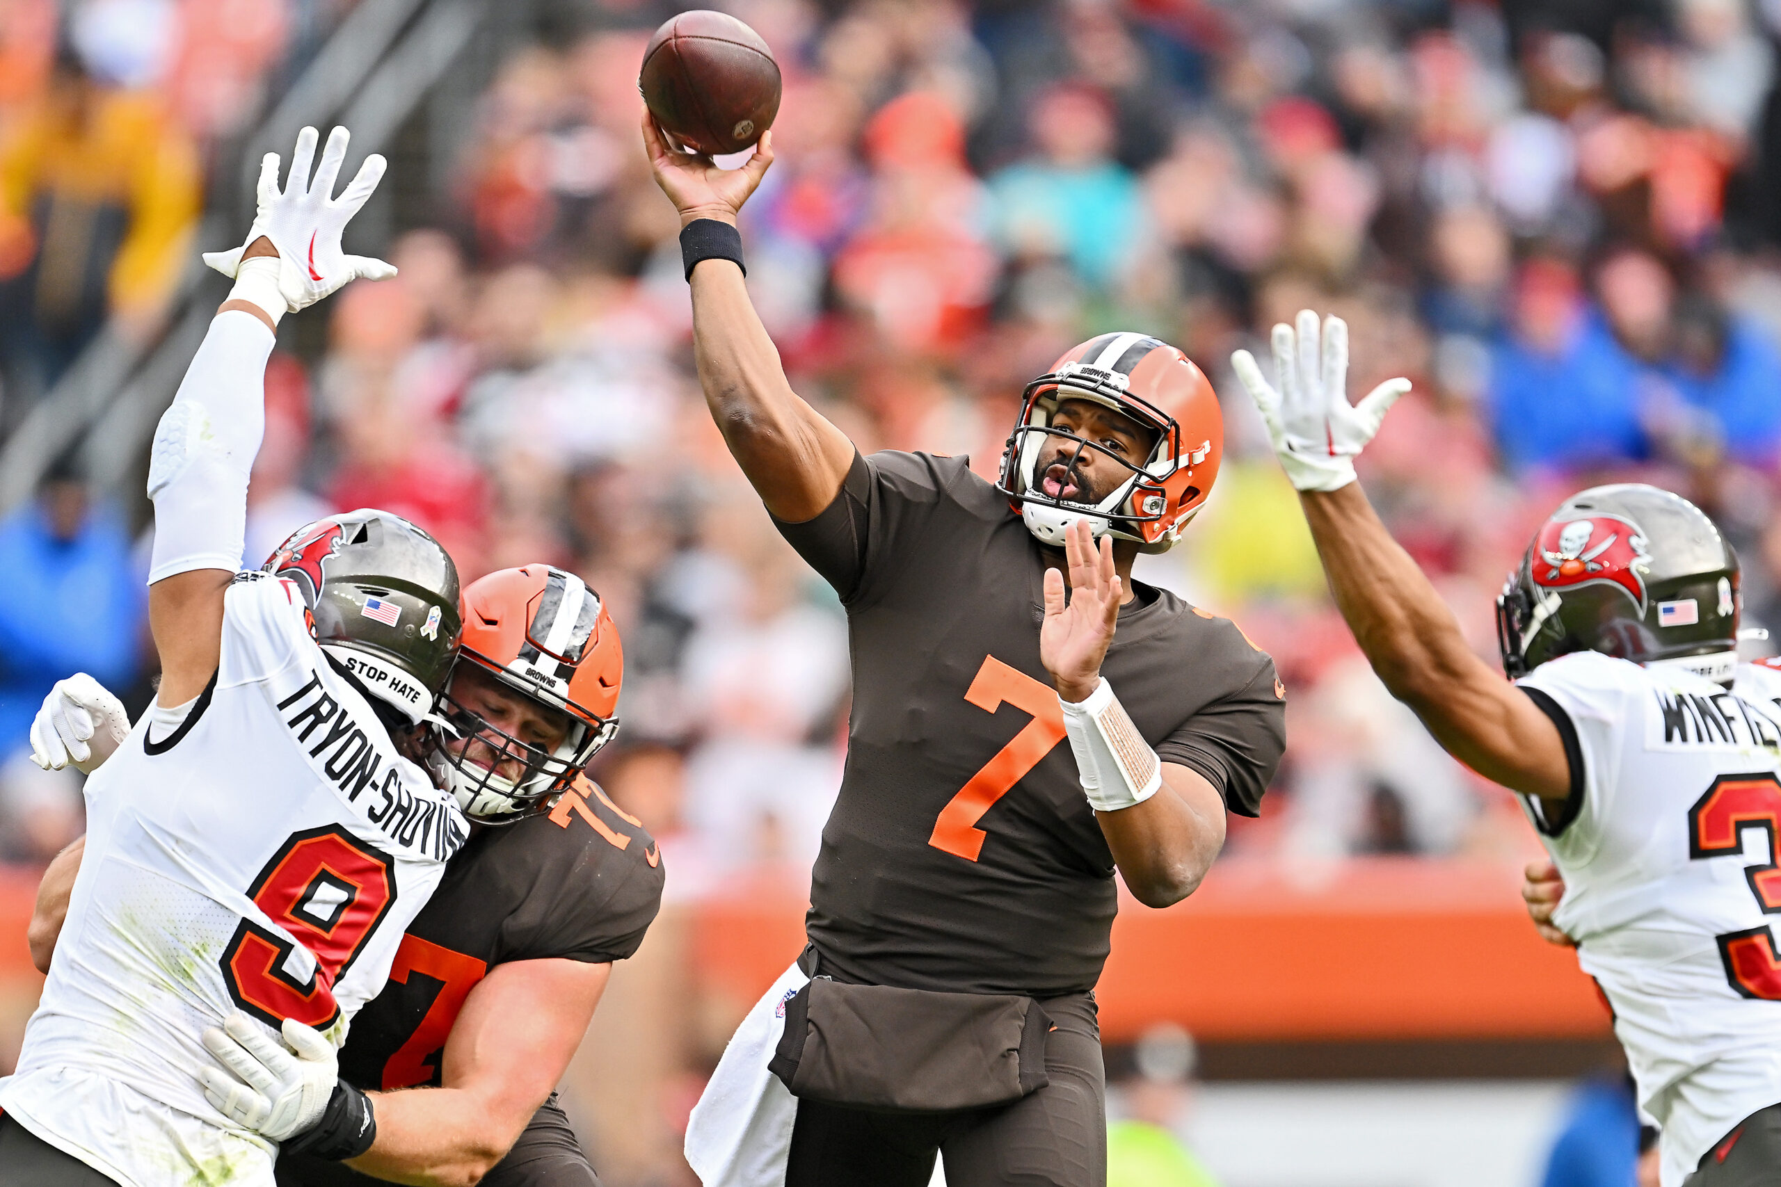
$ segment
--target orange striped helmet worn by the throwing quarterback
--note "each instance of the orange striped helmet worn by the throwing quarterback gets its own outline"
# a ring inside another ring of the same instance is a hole
[[[1136,464],[1054,427],[1058,402],[1067,399],[1095,400],[1154,431],[1151,456]],[[1047,495],[1038,484],[1040,454],[1054,438],[1074,447],[1072,464],[1095,450],[1131,477],[1099,504]],[[1147,335],[1101,335],[1067,351],[1026,386],[996,489],[1008,495],[1042,543],[1061,546],[1070,523],[1086,518],[1095,539],[1113,536],[1136,541],[1140,552],[1165,552],[1211,493],[1222,452],[1218,397],[1186,354]]]

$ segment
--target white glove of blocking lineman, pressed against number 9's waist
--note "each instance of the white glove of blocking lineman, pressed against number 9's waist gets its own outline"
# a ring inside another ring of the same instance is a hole
[[[312,1128],[340,1080],[340,1061],[321,1030],[287,1018],[283,1034],[290,1050],[235,1011],[221,1029],[203,1032],[205,1050],[235,1075],[221,1068],[198,1070],[205,1100],[230,1121],[274,1143]]]

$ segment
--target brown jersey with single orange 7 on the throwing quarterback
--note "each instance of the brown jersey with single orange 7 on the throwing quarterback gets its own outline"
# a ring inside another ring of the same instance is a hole
[[[807,929],[846,981],[1058,997],[1094,988],[1113,856],[1038,660],[1045,548],[964,459],[855,457],[780,532],[841,594],[853,715]],[[1133,584],[1101,673],[1163,762],[1256,815],[1286,744],[1273,660]]]

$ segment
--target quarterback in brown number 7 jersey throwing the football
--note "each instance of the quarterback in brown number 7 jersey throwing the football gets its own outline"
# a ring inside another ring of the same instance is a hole
[[[1213,390],[1156,338],[1101,335],[1028,386],[999,482],[862,457],[793,393],[743,283],[768,139],[725,173],[643,133],[712,418],[853,650],[809,949],[730,1041],[687,1160],[705,1187],[924,1187],[937,1153],[953,1187],[1101,1187],[1113,872],[1152,906],[1191,893],[1282,749],[1273,662],[1131,580],[1211,489]]]

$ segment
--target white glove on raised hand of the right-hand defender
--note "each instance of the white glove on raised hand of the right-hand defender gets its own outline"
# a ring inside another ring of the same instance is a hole
[[[1300,491],[1334,491],[1354,482],[1355,456],[1378,432],[1398,397],[1411,390],[1409,379],[1387,379],[1359,404],[1348,404],[1348,322],[1327,317],[1322,338],[1320,351],[1318,315],[1311,310],[1300,310],[1297,335],[1291,326],[1273,327],[1279,390],[1263,379],[1254,354],[1231,354],[1231,367],[1261,409],[1286,477]]]

